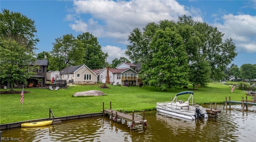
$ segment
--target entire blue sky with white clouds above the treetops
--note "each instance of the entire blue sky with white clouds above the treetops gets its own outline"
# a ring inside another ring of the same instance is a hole
[[[126,57],[128,35],[159,20],[186,14],[207,22],[232,38],[238,56],[232,63],[256,64],[255,0],[1,0],[0,8],[20,12],[35,21],[40,42],[36,53],[52,50],[64,34],[90,32],[98,38],[107,61]]]

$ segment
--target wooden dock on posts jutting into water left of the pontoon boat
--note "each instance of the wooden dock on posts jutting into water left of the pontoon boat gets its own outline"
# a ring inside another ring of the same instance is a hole
[[[132,111],[132,115],[129,115],[126,113],[122,113],[122,110],[120,109],[120,111],[116,111],[116,110],[112,110],[111,109],[111,101],[110,101],[110,109],[104,109],[104,102],[103,102],[103,114],[107,114],[110,116],[110,119],[114,120],[117,122],[118,118],[120,118],[121,120],[126,120],[128,122],[132,122],[130,129],[133,129],[134,126],[136,125],[143,125],[143,128],[145,126],[147,126],[147,120],[144,119],[144,112],[145,110],[143,110],[143,116],[142,118],[136,118],[134,117],[134,111]]]

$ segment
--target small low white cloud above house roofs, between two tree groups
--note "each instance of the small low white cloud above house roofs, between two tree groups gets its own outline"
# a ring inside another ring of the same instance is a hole
[[[102,47],[102,51],[105,53],[108,53],[108,58],[107,58],[107,62],[108,63],[112,63],[112,60],[114,60],[115,58],[120,59],[120,57],[124,57],[129,59],[125,54],[125,50],[121,49],[120,47],[116,47],[116,46],[103,46]]]

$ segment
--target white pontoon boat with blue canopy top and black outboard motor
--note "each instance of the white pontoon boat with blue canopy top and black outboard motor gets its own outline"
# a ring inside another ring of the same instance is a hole
[[[187,101],[183,102],[183,100],[178,100],[178,96],[185,94],[190,94]],[[156,110],[164,114],[169,114],[189,120],[196,120],[197,118],[208,118],[206,108],[203,108],[198,104],[194,104],[193,94],[194,92],[192,91],[179,92],[170,102],[157,102]],[[189,102],[191,98],[192,103]]]

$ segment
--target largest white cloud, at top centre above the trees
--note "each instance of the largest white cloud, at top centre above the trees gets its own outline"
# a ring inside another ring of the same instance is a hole
[[[136,27],[143,28],[149,22],[159,20],[177,20],[184,14],[192,15],[175,0],[77,0],[74,1],[74,11],[81,18],[70,24],[73,30],[86,30],[98,38],[110,37],[122,44],[127,44],[128,35]],[[193,13],[198,12],[193,9]],[[88,14],[91,20],[82,20]],[[202,18],[198,16],[196,20]]]

